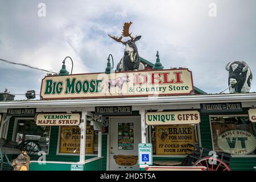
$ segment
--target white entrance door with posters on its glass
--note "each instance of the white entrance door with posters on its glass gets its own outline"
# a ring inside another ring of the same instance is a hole
[[[109,170],[139,170],[141,118],[110,118]]]

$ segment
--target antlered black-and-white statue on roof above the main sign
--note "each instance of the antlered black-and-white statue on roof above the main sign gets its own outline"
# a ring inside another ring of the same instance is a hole
[[[118,38],[115,36],[110,36],[110,38],[114,39],[117,42],[125,45],[125,52],[123,54],[122,59],[117,64],[117,71],[137,71],[138,69],[144,69],[143,64],[141,63],[141,59],[139,57],[138,49],[135,42],[141,39],[141,36],[136,36],[135,38],[131,36],[129,33],[129,28],[132,22],[124,23],[122,35]],[[122,41],[123,37],[129,37],[130,40]]]

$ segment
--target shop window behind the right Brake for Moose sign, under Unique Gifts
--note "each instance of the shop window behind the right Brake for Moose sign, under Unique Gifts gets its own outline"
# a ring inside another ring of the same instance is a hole
[[[186,155],[188,144],[199,146],[197,125],[151,126],[153,155]]]

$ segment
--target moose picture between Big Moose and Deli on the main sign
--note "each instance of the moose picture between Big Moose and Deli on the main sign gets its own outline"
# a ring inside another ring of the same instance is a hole
[[[116,87],[116,86],[118,86],[118,94],[122,95],[123,84],[129,81],[130,81],[130,78],[128,74],[124,74],[122,77],[117,77],[115,79],[106,80],[105,96],[106,96],[106,92],[109,92],[110,95],[112,96],[112,93],[110,92],[110,88]]]

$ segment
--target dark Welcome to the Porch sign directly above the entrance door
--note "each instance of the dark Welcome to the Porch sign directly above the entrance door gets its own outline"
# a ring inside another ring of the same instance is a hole
[[[133,114],[131,106],[109,106],[109,107],[95,107],[97,115],[123,115]]]

